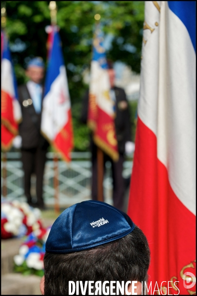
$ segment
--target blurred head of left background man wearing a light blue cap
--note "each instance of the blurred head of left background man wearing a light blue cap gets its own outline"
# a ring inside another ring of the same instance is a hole
[[[33,82],[40,84],[44,77],[44,63],[42,58],[33,58],[27,65],[26,76]]]

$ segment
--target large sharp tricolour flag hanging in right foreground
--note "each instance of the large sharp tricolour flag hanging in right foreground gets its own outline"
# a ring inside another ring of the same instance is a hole
[[[141,88],[128,214],[149,242],[149,283],[158,284],[155,293],[152,287],[152,293],[164,295],[167,291],[167,295],[178,295],[179,289],[180,295],[193,295],[196,290],[196,1],[145,1]],[[172,288],[168,290],[168,287]]]

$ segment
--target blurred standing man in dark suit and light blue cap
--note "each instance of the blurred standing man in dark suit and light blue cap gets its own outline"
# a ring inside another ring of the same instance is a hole
[[[27,202],[31,206],[44,209],[42,197],[43,173],[46,162],[48,142],[40,134],[41,110],[43,98],[42,80],[44,63],[40,57],[32,59],[26,70],[29,81],[18,88],[19,102],[22,109],[22,122],[19,134],[22,138],[22,163],[24,170],[24,189]],[[37,203],[33,204],[31,196],[31,175],[36,173]]]

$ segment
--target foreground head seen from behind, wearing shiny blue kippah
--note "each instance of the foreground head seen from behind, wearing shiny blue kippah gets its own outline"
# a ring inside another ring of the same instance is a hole
[[[69,281],[138,281],[141,292],[149,263],[147,239],[125,213],[102,202],[82,202],[51,228],[40,290],[68,295]]]

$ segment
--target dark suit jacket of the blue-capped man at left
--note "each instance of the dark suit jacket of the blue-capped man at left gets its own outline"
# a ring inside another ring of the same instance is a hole
[[[47,149],[49,144],[40,134],[41,113],[37,114],[33,103],[25,107],[23,102],[31,98],[27,85],[18,87],[19,102],[22,110],[22,122],[19,125],[19,134],[22,137],[22,149]]]

